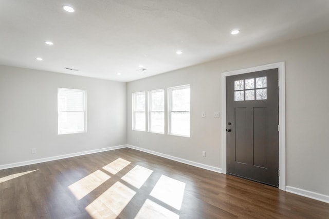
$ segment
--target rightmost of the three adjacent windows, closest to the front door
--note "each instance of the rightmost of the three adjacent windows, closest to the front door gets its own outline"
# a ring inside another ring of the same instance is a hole
[[[168,134],[190,136],[190,85],[168,88]]]

